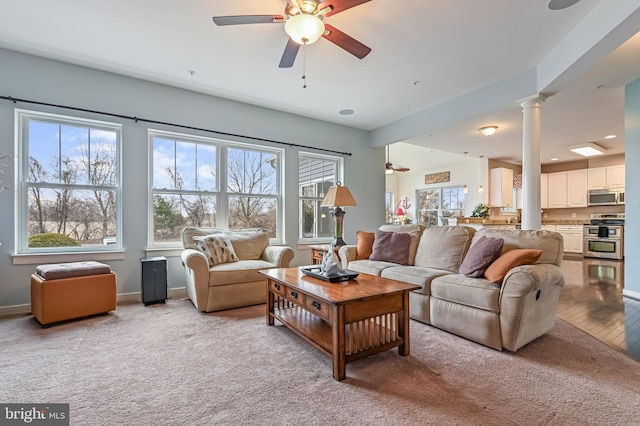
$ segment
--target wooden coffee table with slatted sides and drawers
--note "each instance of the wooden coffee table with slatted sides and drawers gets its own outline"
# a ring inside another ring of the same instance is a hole
[[[401,281],[360,274],[330,283],[299,268],[260,271],[267,277],[267,324],[277,319],[333,361],[333,378],[346,364],[398,347],[409,355],[409,292]]]

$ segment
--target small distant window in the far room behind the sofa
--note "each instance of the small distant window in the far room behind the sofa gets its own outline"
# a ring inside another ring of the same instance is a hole
[[[418,223],[421,225],[455,225],[455,218],[464,216],[462,186],[421,189],[417,191],[417,199]]]

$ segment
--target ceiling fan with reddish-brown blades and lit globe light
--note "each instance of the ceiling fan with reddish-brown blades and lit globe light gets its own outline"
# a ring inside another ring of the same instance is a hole
[[[342,31],[325,24],[323,19],[371,0],[287,0],[284,15],[214,16],[216,25],[285,24],[289,40],[280,59],[280,68],[291,68],[300,45],[311,44],[323,37],[362,59],[371,49]]]

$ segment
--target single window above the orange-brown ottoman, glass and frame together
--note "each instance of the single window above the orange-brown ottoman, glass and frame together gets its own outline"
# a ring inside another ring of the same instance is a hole
[[[19,253],[122,248],[119,124],[17,110]]]

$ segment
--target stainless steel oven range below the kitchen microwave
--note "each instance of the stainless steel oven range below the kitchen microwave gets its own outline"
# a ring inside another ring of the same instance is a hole
[[[584,256],[624,259],[624,213],[591,215],[584,226]]]

